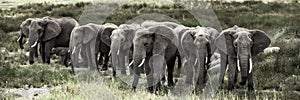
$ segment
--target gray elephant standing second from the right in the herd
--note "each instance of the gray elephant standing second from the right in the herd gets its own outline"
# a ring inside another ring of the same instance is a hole
[[[200,85],[204,85],[206,79],[206,71],[208,69],[208,64],[210,63],[211,55],[216,50],[215,39],[218,35],[219,32],[211,27],[196,27],[195,29],[189,29],[183,33],[181,44],[184,50],[188,52],[194,49],[192,53],[187,54],[187,63],[194,65],[189,65],[186,68],[186,83],[191,84],[193,77],[198,76],[197,83]],[[198,75],[193,75],[196,74],[193,73],[193,70],[196,70],[196,73],[198,73]]]

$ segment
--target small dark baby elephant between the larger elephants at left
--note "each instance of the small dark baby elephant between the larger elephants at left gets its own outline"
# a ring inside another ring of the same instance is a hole
[[[68,47],[52,48],[50,54],[56,54],[57,56],[60,56],[60,63],[68,67],[68,59],[70,58]]]

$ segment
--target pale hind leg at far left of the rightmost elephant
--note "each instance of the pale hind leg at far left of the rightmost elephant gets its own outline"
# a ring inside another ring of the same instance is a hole
[[[224,76],[225,76],[225,72],[227,69],[227,55],[223,52],[220,51],[221,54],[221,72],[220,72],[220,77],[219,77],[219,83],[222,84],[224,83]]]

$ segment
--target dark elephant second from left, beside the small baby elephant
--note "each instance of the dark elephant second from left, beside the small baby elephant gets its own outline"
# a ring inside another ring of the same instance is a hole
[[[29,26],[29,63],[33,64],[33,54],[38,42],[41,45],[41,56],[44,63],[50,63],[50,51],[54,47],[69,47],[72,29],[78,25],[73,18],[51,18],[32,20]]]

